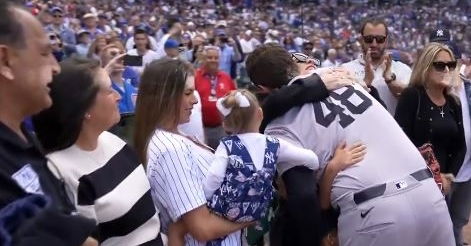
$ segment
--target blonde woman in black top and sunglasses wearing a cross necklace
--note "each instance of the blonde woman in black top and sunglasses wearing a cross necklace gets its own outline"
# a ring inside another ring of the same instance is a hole
[[[452,93],[456,66],[456,58],[447,46],[427,45],[414,65],[409,88],[402,92],[395,115],[415,146],[432,144],[445,194],[465,154],[461,106]]]

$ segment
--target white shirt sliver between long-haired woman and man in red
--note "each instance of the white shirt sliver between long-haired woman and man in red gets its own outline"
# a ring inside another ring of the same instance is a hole
[[[203,114],[201,112],[201,98],[198,91],[194,91],[198,103],[193,105],[191,110],[190,122],[180,124],[178,130],[186,136],[194,137],[201,143],[206,143],[204,139]]]

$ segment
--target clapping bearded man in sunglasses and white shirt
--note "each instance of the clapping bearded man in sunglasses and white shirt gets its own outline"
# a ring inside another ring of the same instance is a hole
[[[397,98],[409,84],[412,70],[400,61],[393,61],[386,52],[388,26],[380,19],[363,22],[360,28],[363,54],[343,64],[367,88],[376,88],[391,115],[396,111]]]

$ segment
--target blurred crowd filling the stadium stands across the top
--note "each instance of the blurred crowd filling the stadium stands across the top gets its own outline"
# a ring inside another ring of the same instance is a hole
[[[144,65],[168,55],[198,67],[202,48],[217,45],[223,48],[220,69],[239,86],[248,83],[244,59],[263,43],[303,52],[322,66],[356,59],[361,53],[359,25],[367,16],[386,20],[393,59],[408,65],[436,27],[450,31],[463,58],[471,48],[471,3],[463,0],[33,0],[26,6],[49,32],[58,60],[73,54],[98,58],[103,47],[117,42],[129,54],[137,48],[144,55],[148,48]],[[136,33],[143,40],[137,44]],[[138,76],[142,68],[135,70]]]

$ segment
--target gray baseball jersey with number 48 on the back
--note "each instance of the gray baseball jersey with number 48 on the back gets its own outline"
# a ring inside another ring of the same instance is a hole
[[[363,161],[341,171],[335,178],[333,207],[339,200],[348,199],[352,192],[426,168],[423,157],[394,118],[361,85],[342,87],[334,92],[339,95],[338,99],[330,96],[326,101],[293,108],[265,130],[268,135],[314,151],[320,170],[343,141],[348,146],[361,142],[367,147]],[[327,104],[331,104],[330,107]],[[333,105],[344,110],[335,115],[329,110]],[[319,177],[321,174],[322,171],[318,172]]]

